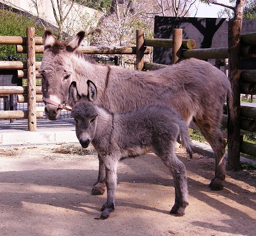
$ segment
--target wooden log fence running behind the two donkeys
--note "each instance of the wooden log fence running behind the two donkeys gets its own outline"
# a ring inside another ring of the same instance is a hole
[[[136,47],[83,47],[79,48],[84,54],[136,54],[137,70],[157,70],[166,65],[156,63],[145,63],[144,55],[150,53],[148,47],[169,47],[172,48],[172,63],[177,63],[181,59],[196,57],[198,59],[225,59],[232,48],[205,48],[195,49],[194,40],[183,40],[182,29],[173,29],[172,39],[144,38],[144,31],[136,32]],[[19,102],[28,102],[28,111],[0,111],[0,119],[28,119],[29,131],[36,131],[36,118],[43,116],[42,112],[37,112],[36,101],[42,101],[41,87],[35,85],[36,77],[40,77],[37,69],[40,63],[35,61],[35,54],[44,52],[43,40],[35,36],[35,29],[27,29],[27,37],[0,36],[0,44],[17,45],[17,52],[28,54],[26,62],[21,61],[0,61],[0,70],[17,70],[18,78],[28,78],[28,86],[0,86],[0,96],[3,94],[18,94]],[[229,47],[231,47],[229,45]],[[241,36],[241,46],[239,52],[243,57],[256,56],[256,33]],[[240,57],[239,57],[240,58]],[[230,60],[230,58],[229,58]],[[229,70],[232,70],[230,68]],[[239,71],[239,96],[243,94],[256,94],[256,70]],[[229,71],[230,74],[230,71]],[[241,75],[241,76],[240,76]],[[240,101],[240,100],[239,100]],[[239,129],[239,140],[241,140],[240,129],[245,131],[256,131],[256,108],[240,107],[236,103],[239,112],[235,129]],[[227,125],[227,115],[223,115],[223,124]],[[231,129],[234,129],[232,127]],[[228,150],[232,155],[231,151]],[[240,151],[256,156],[256,145],[239,141]]]

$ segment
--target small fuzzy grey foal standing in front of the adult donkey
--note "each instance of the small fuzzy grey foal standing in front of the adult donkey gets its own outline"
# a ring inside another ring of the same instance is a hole
[[[107,202],[100,219],[106,219],[115,209],[116,170],[118,161],[127,156],[139,156],[152,151],[168,166],[173,175],[175,203],[170,211],[184,215],[188,205],[186,168],[175,155],[175,142],[180,133],[182,143],[192,158],[188,126],[175,110],[163,105],[147,105],[124,114],[109,113],[97,107],[97,88],[88,80],[87,96],[80,96],[76,82],[69,89],[75,103],[71,116],[76,121],[76,135],[86,148],[92,142],[106,166]]]

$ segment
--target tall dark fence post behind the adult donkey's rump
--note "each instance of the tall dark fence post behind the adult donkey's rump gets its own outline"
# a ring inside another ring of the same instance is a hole
[[[228,21],[228,71],[234,98],[231,104],[234,121],[228,122],[228,170],[234,170],[240,165],[241,24],[241,20]]]

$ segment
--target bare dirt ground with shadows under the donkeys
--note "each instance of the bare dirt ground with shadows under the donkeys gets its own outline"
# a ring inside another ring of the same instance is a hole
[[[118,166],[116,209],[99,220],[106,200],[92,196],[98,160],[77,145],[0,148],[0,235],[256,235],[255,172],[228,172],[223,191],[207,184],[214,159],[177,149],[188,172],[189,206],[168,214],[172,177],[150,154]]]

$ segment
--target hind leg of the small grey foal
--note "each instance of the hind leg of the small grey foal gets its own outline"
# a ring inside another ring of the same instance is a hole
[[[158,156],[158,155],[157,155]],[[164,165],[168,166],[173,176],[175,188],[175,203],[170,210],[170,214],[183,216],[185,208],[188,206],[188,183],[185,165],[177,158],[173,150],[168,154],[159,155]]]

